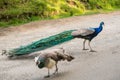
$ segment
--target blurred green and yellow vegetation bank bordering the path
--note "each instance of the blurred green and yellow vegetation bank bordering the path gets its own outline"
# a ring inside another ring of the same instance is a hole
[[[120,9],[120,0],[0,0],[0,27]]]

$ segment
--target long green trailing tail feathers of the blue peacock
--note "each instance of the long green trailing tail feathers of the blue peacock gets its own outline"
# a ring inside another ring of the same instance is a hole
[[[29,45],[10,50],[8,54],[10,56],[20,56],[20,55],[30,54],[32,52],[44,50],[46,48],[55,46],[57,44],[72,40],[74,38],[71,35],[72,31],[74,30],[64,31],[59,34],[56,34],[56,35],[53,35],[53,36],[50,36],[44,39],[40,39]]]

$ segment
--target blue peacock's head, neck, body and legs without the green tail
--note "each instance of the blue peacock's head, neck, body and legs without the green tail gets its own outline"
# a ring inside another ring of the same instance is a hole
[[[87,28],[87,29],[78,29],[72,32],[72,36],[74,38],[83,38],[83,50],[87,50],[85,48],[85,42],[86,40],[88,40],[88,46],[90,48],[90,52],[95,52],[95,50],[92,49],[92,47],[90,46],[90,42],[93,38],[95,38],[102,30],[103,30],[103,25],[104,22],[101,22],[99,27],[97,28]]]

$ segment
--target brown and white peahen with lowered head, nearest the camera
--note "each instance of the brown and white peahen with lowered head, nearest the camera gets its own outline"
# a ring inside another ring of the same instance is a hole
[[[51,49],[51,50],[45,50],[41,51],[40,55],[35,57],[35,63],[38,66],[38,68],[47,68],[48,69],[48,75],[45,77],[50,77],[50,69],[52,69],[54,66],[56,67],[56,70],[53,74],[58,73],[58,61],[61,60],[67,60],[71,61],[74,57],[68,53],[65,52],[65,49],[63,48],[57,48],[57,49]]]

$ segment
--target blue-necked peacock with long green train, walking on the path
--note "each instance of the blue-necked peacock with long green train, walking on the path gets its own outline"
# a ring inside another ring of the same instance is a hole
[[[35,51],[44,50],[46,48],[64,43],[66,41],[70,41],[74,38],[84,39],[83,50],[86,50],[85,42],[86,40],[88,40],[88,46],[90,48],[90,51],[93,52],[94,50],[91,48],[90,42],[103,30],[103,26],[104,22],[101,22],[99,27],[97,28],[67,30],[50,37],[40,39],[36,42],[32,42],[31,44],[28,44],[26,46],[9,50],[8,52],[6,52],[6,50],[3,50],[2,54],[7,54],[10,57],[30,54]]]

